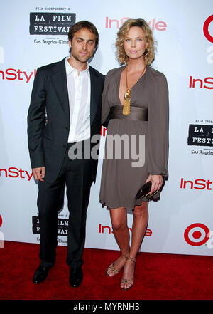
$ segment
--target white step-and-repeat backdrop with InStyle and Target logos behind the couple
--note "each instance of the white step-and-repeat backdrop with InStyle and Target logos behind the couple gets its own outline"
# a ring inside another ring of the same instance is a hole
[[[159,202],[150,202],[141,251],[213,253],[213,3],[212,0],[11,0],[0,10],[0,244],[39,243],[38,184],[28,156],[26,117],[36,68],[69,54],[67,31],[88,20],[99,31],[91,65],[106,74],[119,66],[119,27],[142,17],[158,42],[153,67],[170,91],[169,179]],[[87,213],[87,248],[118,249],[97,182]],[[67,201],[58,215],[58,244],[67,245]],[[131,233],[132,213],[128,213]]]

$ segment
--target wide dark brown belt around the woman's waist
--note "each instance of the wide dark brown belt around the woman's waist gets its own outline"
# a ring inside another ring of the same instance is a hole
[[[130,106],[129,115],[123,115],[123,106],[116,105],[110,108],[110,119],[148,121],[148,108]]]

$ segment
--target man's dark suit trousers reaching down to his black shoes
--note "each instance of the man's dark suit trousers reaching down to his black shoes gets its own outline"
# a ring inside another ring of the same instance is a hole
[[[67,264],[70,267],[77,267],[83,263],[87,206],[92,185],[92,160],[71,160],[68,156],[70,146],[72,145],[67,145],[67,152],[58,179],[52,184],[45,181],[38,183],[41,266],[53,266],[55,263],[58,211],[63,206],[65,187],[70,212]]]

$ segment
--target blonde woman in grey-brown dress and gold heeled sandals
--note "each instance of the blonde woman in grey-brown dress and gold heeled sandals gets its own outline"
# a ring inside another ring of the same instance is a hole
[[[112,277],[124,269],[120,286],[127,290],[133,286],[136,256],[148,224],[148,198],[136,199],[136,193],[151,181],[153,194],[168,175],[168,85],[165,75],[151,67],[155,46],[151,28],[143,19],[128,19],[121,26],[116,54],[124,66],[110,70],[104,83],[102,122],[109,120],[109,125],[99,201],[110,209],[114,236],[121,250],[121,256],[106,273]],[[115,135],[122,140],[113,141]],[[131,152],[129,158],[126,143]],[[115,156],[118,144],[119,158]],[[132,151],[139,152],[138,164]],[[157,192],[153,199],[159,196]],[[131,244],[127,209],[133,211]]]

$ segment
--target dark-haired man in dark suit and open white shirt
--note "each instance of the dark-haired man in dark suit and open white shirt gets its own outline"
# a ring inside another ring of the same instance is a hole
[[[97,28],[80,21],[70,28],[68,38],[70,57],[38,68],[35,75],[28,110],[28,148],[33,176],[38,180],[40,220],[40,265],[33,283],[44,281],[55,263],[58,211],[66,187],[70,212],[67,265],[70,286],[77,287],[83,278],[86,212],[97,158],[82,154],[81,159],[70,159],[68,152],[79,144],[82,152],[90,147],[90,153],[97,144],[91,144],[91,139],[101,129],[104,75],[87,62],[97,49]]]

